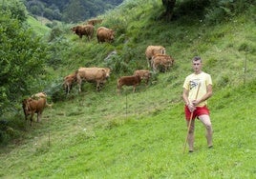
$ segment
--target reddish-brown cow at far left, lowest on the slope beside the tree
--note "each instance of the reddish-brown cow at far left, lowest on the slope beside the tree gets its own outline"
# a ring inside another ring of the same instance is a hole
[[[46,98],[40,97],[38,99],[24,99],[22,101],[22,108],[25,114],[25,120],[27,121],[28,116],[31,115],[31,126],[32,126],[32,117],[34,113],[37,113],[37,122],[41,121],[43,110],[46,107]]]

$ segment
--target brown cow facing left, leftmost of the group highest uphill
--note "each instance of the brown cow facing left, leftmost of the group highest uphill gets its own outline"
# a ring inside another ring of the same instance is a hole
[[[83,35],[87,36],[88,41],[90,41],[93,38],[95,27],[93,25],[82,25],[75,26],[71,30],[80,38],[82,38]]]

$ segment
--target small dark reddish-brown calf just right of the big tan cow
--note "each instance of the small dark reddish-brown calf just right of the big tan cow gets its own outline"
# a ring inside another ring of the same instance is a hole
[[[141,77],[139,75],[133,76],[121,76],[117,79],[117,93],[120,93],[122,86],[133,86],[133,92],[135,92],[136,87],[140,84]]]

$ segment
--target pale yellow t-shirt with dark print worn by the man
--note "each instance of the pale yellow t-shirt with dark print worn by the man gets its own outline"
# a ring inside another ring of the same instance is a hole
[[[185,78],[183,88],[189,90],[188,100],[190,102],[196,99],[199,84],[201,84],[201,86],[200,86],[200,89],[198,92],[197,99],[202,98],[203,95],[207,92],[208,85],[212,85],[212,80],[211,80],[210,74],[202,71],[200,74],[192,73]],[[203,101],[202,103],[200,103],[198,105],[198,107],[203,107],[205,105],[207,105],[206,100]]]

